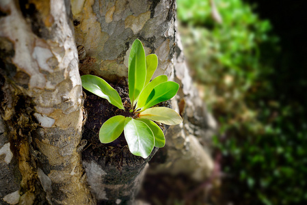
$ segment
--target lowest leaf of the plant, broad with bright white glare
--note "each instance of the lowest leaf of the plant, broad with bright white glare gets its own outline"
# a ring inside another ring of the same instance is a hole
[[[129,150],[136,156],[144,159],[149,156],[155,146],[155,137],[146,123],[126,118],[124,124],[124,137],[129,146]]]

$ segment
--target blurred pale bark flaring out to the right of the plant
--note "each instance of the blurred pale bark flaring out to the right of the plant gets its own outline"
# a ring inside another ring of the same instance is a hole
[[[174,54],[174,81],[181,87],[176,98],[172,99],[172,107],[183,117],[183,124],[170,126],[165,136],[168,143],[159,150],[148,172],[185,174],[201,182],[213,171],[211,137],[217,131],[217,124],[206,111],[206,106],[193,85],[178,33]]]

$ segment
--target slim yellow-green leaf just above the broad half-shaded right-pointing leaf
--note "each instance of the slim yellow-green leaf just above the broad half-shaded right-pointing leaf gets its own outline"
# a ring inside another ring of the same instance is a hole
[[[146,100],[148,99],[149,94],[152,90],[159,85],[160,83],[168,81],[168,77],[166,75],[159,75],[155,77],[146,87],[142,90],[141,94],[139,94],[139,98],[137,100],[137,109],[145,106]]]

